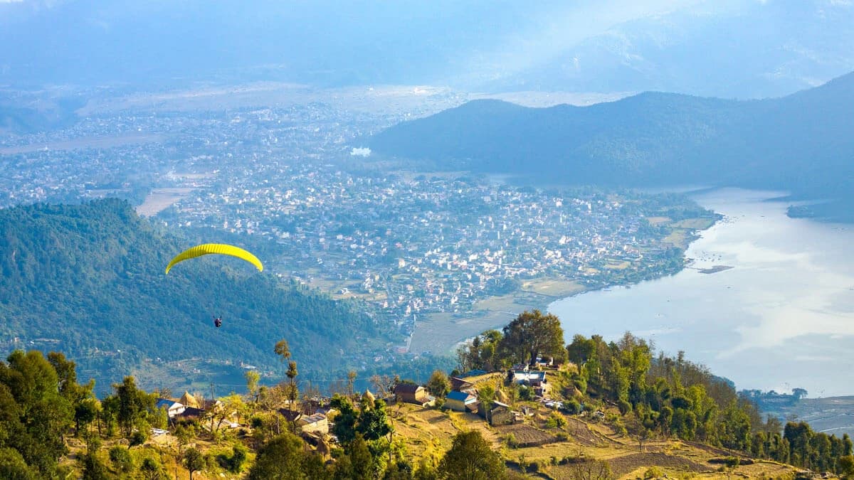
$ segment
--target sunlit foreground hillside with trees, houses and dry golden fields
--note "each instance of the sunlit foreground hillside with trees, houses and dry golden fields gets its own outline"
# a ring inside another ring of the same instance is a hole
[[[286,341],[275,351],[290,359]],[[0,361],[0,477],[854,477],[849,436],[763,421],[730,383],[628,332],[565,345],[557,318],[525,312],[459,360],[478,370],[433,372],[426,403],[396,376],[322,396],[293,360],[272,387],[248,374],[248,395],[163,401],[130,376],[97,397],[63,354],[15,350]]]

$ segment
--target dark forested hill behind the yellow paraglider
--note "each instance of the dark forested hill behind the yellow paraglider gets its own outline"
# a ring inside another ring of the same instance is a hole
[[[188,246],[119,200],[0,210],[0,348],[67,352],[81,377],[108,388],[145,358],[278,368],[273,345],[287,338],[307,373],[343,366],[341,349],[354,354],[365,337],[382,337],[352,305],[231,257],[165,275]],[[222,328],[213,314],[225,317]]]

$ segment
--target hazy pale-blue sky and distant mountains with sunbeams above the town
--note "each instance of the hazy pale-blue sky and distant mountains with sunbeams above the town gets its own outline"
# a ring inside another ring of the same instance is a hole
[[[784,94],[854,70],[848,0],[0,0],[0,84],[284,79]]]

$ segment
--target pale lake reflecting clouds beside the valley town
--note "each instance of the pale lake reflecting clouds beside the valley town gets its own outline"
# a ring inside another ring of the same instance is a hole
[[[788,202],[769,201],[781,195],[693,196],[725,218],[691,243],[690,268],[554,301],[566,341],[631,331],[665,353],[684,350],[737,389],[854,394],[854,225],[790,219]]]

